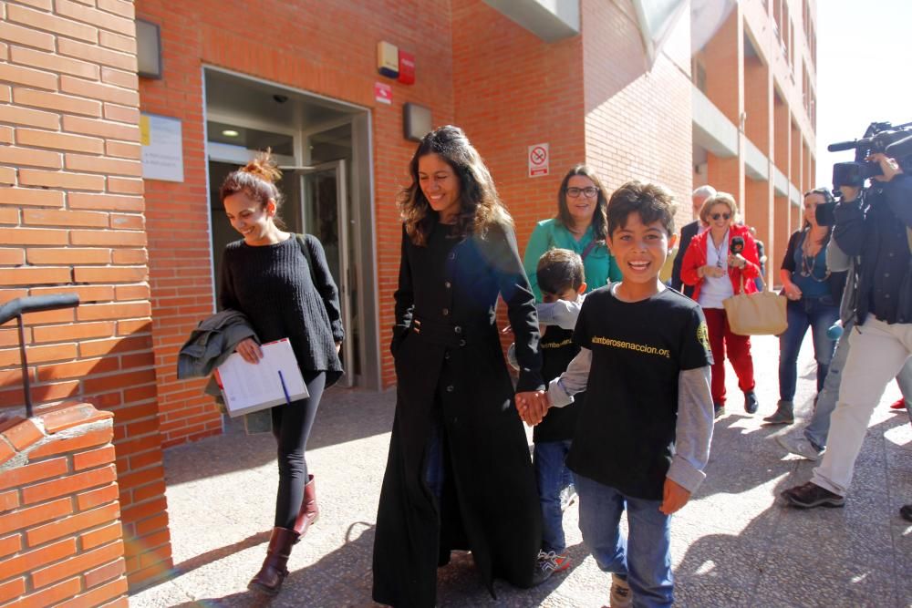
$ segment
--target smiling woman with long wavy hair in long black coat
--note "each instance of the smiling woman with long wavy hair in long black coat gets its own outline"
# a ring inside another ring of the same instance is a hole
[[[541,510],[495,322],[508,306],[517,392],[543,388],[535,300],[513,222],[461,129],[421,140],[409,166],[396,326],[399,379],[377,514],[374,599],[433,606],[437,567],[472,551],[482,581],[539,576]]]

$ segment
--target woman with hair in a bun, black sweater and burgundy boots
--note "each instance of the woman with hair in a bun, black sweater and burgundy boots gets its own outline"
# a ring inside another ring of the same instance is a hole
[[[244,313],[261,344],[289,339],[309,393],[271,411],[279,466],[275,528],[263,567],[248,585],[270,595],[288,574],[292,545],[319,515],[305,449],[323,390],[342,375],[338,351],[344,336],[323,247],[312,235],[285,232],[277,216],[282,196],[274,182],[280,175],[267,153],[230,173],[220,191],[225,213],[244,239],[225,247],[219,302]],[[251,338],[238,344],[237,352],[249,363],[262,356]]]

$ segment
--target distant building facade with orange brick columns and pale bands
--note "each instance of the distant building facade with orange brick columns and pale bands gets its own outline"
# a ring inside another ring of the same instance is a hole
[[[803,192],[816,186],[816,15],[810,0],[692,15],[693,181],[731,192],[778,283]],[[697,3],[695,3],[697,5]]]

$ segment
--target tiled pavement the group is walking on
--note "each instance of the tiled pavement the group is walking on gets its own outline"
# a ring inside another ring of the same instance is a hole
[[[814,390],[810,340],[800,366],[798,415]],[[786,456],[761,424],[777,398],[777,342],[754,338],[761,409],[741,410],[729,368],[728,415],[716,424],[708,479],[672,520],[680,606],[912,606],[912,428],[905,412],[876,408],[845,509],[786,508],[779,491],[810,478],[813,464]],[[371,547],[395,394],[332,389],[308,450],[321,519],[292,555],[275,606],[369,606]],[[798,422],[801,424],[801,421]],[[173,448],[165,457],[171,577],[133,593],[151,606],[268,605],[246,582],[263,560],[275,497],[275,443],[236,425],[219,438]],[[439,573],[441,606],[601,606],[609,576],[586,555],[577,509],[565,514],[574,565],[533,590],[497,582],[495,601],[468,554]]]

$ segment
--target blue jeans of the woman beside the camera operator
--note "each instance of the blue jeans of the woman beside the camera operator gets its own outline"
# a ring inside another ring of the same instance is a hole
[[[835,341],[826,335],[826,330],[839,320],[839,306],[833,298],[803,297],[796,302],[789,301],[786,308],[789,326],[779,336],[779,398],[792,401],[795,397],[795,383],[798,380],[798,351],[808,326],[814,338],[814,359],[817,361],[817,392],[824,387],[824,378],[830,361],[833,360]]]

